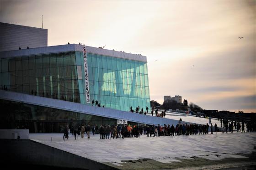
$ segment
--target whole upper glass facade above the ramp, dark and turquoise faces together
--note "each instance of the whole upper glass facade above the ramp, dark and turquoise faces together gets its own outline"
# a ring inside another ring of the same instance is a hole
[[[150,108],[146,62],[87,53],[91,101],[129,111]],[[82,52],[0,59],[3,90],[91,105],[85,101]]]

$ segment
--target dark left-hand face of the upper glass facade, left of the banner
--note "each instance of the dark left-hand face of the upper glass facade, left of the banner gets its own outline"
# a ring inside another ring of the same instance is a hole
[[[80,103],[75,52],[0,60],[1,89]]]

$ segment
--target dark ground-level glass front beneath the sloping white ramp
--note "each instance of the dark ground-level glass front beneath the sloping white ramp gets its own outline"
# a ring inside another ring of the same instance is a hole
[[[70,112],[31,104],[0,100],[0,129],[29,129],[30,133],[63,132],[64,127],[117,124],[116,119]]]

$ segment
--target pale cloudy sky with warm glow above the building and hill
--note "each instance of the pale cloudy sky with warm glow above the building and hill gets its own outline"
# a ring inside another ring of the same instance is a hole
[[[256,112],[255,0],[0,0],[0,22],[42,27],[42,15],[48,46],[147,56],[150,100]]]

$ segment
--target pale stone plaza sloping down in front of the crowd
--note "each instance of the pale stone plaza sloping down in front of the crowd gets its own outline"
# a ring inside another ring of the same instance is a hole
[[[124,160],[152,159],[171,163],[178,158],[193,157],[208,160],[245,158],[255,152],[256,133],[207,134],[189,136],[160,136],[126,139],[100,139],[97,134],[91,139],[74,139],[72,134],[63,140],[63,134],[29,134],[29,139],[68,151],[102,163],[122,166]],[[85,135],[87,137],[87,135]],[[52,139],[52,140],[51,140]]]

